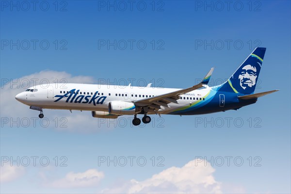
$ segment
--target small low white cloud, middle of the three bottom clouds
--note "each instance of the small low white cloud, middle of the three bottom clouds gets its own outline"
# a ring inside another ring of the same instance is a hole
[[[102,178],[103,172],[89,169],[83,173],[69,172],[65,178],[54,180],[48,185],[56,188],[92,187],[97,186]]]

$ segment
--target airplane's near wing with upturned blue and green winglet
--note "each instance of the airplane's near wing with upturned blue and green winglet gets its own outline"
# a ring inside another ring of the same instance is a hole
[[[141,107],[145,107],[148,106],[151,109],[164,109],[164,107],[169,107],[169,103],[173,102],[173,103],[178,103],[177,100],[180,98],[180,95],[186,94],[188,92],[191,92],[193,90],[197,90],[201,87],[203,87],[203,85],[208,84],[209,80],[210,80],[210,76],[212,75],[213,72],[213,67],[210,69],[210,71],[208,72],[208,74],[204,77],[204,79],[197,85],[194,85],[190,88],[186,88],[186,89],[181,89],[181,90],[177,90],[174,92],[170,92],[170,93],[166,93],[166,94],[162,94],[159,96],[154,96],[154,97],[149,97],[149,98],[145,98],[145,99],[141,99],[141,100],[136,100],[133,103],[136,106],[141,106]]]

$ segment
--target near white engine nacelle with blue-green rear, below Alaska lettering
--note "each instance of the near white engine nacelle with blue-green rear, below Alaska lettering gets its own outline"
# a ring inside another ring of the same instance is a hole
[[[131,102],[111,101],[108,105],[108,112],[117,115],[132,115],[135,113],[135,105]]]

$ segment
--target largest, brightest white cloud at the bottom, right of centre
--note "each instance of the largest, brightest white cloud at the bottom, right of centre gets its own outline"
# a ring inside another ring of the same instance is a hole
[[[196,164],[196,165],[195,165]],[[103,193],[222,193],[215,169],[204,162],[190,161],[183,167],[171,167],[143,181],[132,179]]]

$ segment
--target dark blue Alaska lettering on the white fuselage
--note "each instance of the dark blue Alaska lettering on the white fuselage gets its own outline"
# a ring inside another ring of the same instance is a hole
[[[93,103],[94,106],[96,106],[96,104],[103,104],[104,100],[106,99],[105,96],[97,96],[98,91],[94,93],[94,95],[79,95],[79,91],[76,89],[72,89],[69,92],[67,92],[64,95],[56,95],[54,97],[58,97],[58,99],[56,99],[54,102],[57,102],[63,98],[65,98],[65,102],[68,103],[88,103],[91,104]]]

